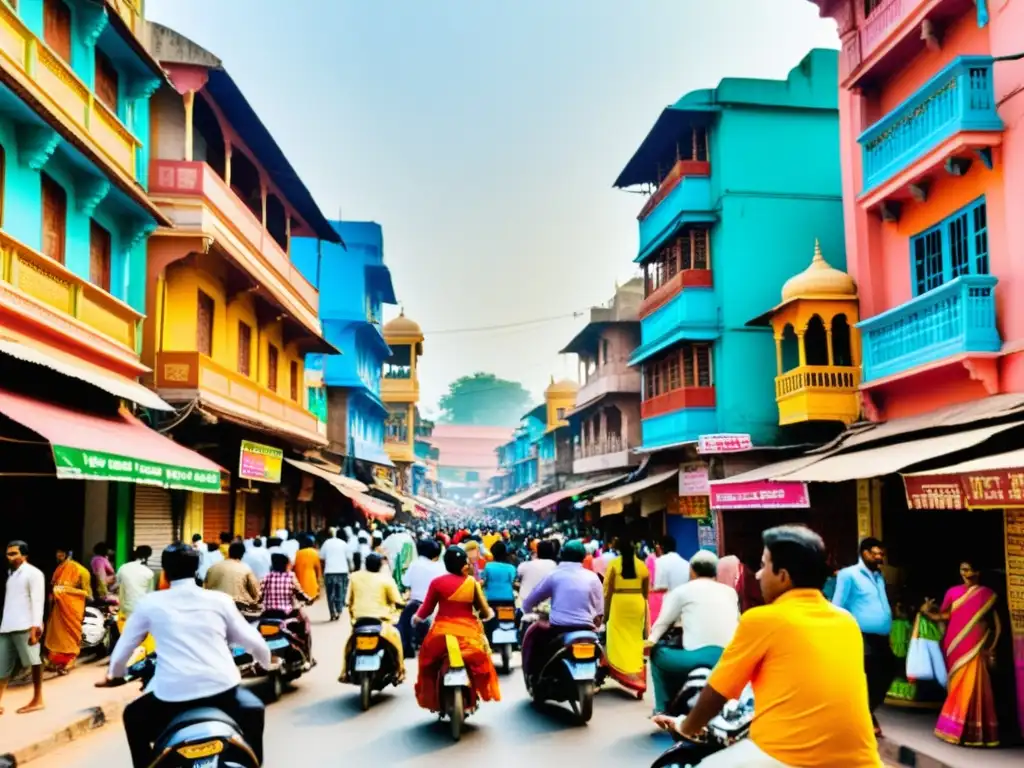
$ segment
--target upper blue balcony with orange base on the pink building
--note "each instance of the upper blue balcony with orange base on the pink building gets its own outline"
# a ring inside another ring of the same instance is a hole
[[[953,59],[857,139],[864,175],[861,204],[901,193],[957,155],[998,144],[1002,128],[991,56]]]

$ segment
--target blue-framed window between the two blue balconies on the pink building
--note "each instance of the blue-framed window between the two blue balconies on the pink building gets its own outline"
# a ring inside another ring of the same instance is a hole
[[[914,296],[963,274],[988,274],[988,211],[982,198],[910,239]]]

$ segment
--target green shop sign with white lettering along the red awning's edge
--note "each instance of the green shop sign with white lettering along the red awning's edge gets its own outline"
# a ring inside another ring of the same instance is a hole
[[[53,463],[60,480],[114,480],[207,494],[220,492],[220,472],[208,469],[175,467],[57,444],[53,445]]]

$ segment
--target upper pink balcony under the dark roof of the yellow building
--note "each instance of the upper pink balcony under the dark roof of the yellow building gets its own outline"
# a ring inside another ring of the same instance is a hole
[[[150,193],[178,231],[214,238],[232,259],[319,335],[319,293],[302,276],[285,250],[210,166],[200,162],[155,160]],[[198,202],[200,215],[186,203]]]

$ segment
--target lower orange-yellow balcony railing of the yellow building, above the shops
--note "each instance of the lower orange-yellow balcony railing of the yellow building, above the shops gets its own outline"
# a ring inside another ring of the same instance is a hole
[[[218,395],[236,403],[242,416],[269,417],[307,436],[321,435],[316,416],[301,403],[283,397],[263,384],[199,352],[158,353],[157,388]],[[272,423],[262,423],[273,428]]]

